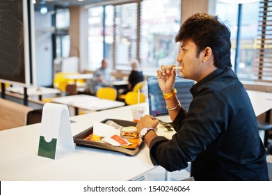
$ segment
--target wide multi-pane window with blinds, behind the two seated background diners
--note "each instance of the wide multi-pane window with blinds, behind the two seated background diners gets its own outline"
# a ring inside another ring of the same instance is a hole
[[[154,72],[161,64],[175,63],[181,1],[139,2],[89,8],[90,70],[99,68],[104,57],[113,68],[122,70],[131,69],[131,59],[140,59],[145,72]]]

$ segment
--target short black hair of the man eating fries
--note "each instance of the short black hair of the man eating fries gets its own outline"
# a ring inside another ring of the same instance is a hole
[[[179,29],[175,41],[193,40],[198,48],[197,57],[206,47],[214,53],[214,66],[232,67],[230,62],[230,29],[217,16],[196,13],[189,17]]]

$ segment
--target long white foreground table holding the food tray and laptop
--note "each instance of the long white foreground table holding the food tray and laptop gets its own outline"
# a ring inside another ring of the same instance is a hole
[[[147,109],[147,104],[143,103]],[[72,135],[76,135],[94,121],[106,118],[131,120],[131,107],[73,116]],[[158,134],[170,138],[172,132],[159,128]],[[56,159],[38,156],[40,123],[0,131],[0,180],[130,180],[154,168],[147,146],[136,156],[109,150],[77,147],[61,153]],[[131,169],[133,167],[133,169]],[[126,171],[124,171],[126,170]]]

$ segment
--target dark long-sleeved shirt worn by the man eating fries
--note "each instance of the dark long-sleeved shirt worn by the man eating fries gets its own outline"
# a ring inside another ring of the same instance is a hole
[[[195,180],[269,180],[257,119],[232,69],[215,70],[191,93],[189,111],[182,108],[173,121],[173,138],[152,140],[152,163],[176,171],[192,162]]]

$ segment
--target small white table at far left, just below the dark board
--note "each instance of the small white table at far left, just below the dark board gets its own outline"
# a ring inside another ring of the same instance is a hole
[[[24,95],[24,88],[21,86],[8,87],[6,91],[13,93],[19,93]],[[42,86],[32,86],[26,89],[27,95],[29,96],[38,96],[39,100],[42,100],[42,95],[51,95],[51,94],[60,94],[61,91],[56,88],[47,88]]]

